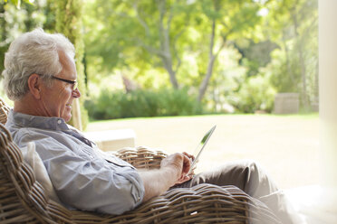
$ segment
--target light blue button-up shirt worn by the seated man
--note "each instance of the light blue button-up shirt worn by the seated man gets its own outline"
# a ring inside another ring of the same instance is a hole
[[[63,118],[11,110],[5,126],[19,147],[34,141],[60,201],[68,207],[121,214],[142,201],[144,185],[137,170],[65,134],[77,131]]]

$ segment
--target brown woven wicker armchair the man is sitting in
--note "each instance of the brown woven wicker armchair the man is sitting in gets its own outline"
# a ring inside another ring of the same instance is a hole
[[[166,156],[144,147],[126,148],[115,154],[136,167],[148,169],[159,167]],[[68,210],[46,196],[1,124],[0,211],[0,223],[280,223],[262,202],[244,191],[211,184],[167,191],[120,216]]]

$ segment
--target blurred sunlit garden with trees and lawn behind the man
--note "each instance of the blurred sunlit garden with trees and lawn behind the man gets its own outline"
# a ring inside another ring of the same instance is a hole
[[[174,152],[217,124],[199,169],[250,158],[283,187],[313,184],[317,11],[317,0],[1,0],[0,70],[20,33],[63,33],[84,131],[132,128]],[[296,115],[274,114],[280,93],[296,94]]]

